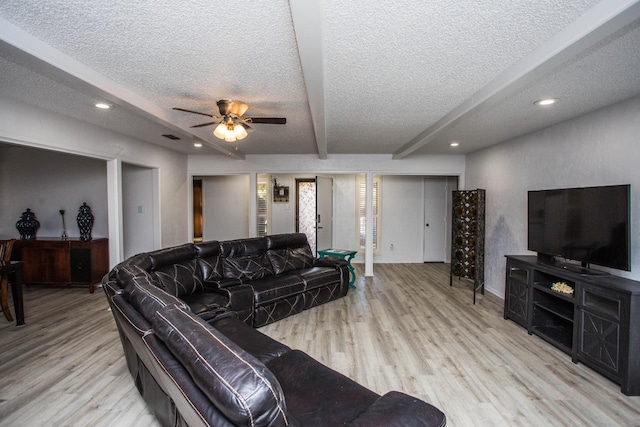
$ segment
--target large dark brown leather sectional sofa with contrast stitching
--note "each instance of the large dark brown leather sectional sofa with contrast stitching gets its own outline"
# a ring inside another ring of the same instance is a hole
[[[304,235],[286,234],[136,255],[103,288],[162,425],[444,425],[437,408],[379,396],[254,329],[346,295],[348,281],[343,260],[316,259]]]

